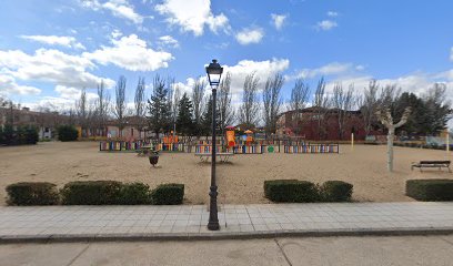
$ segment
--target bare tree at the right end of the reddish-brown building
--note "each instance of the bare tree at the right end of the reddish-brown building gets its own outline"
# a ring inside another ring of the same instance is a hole
[[[364,90],[363,95],[361,96],[360,110],[366,135],[370,134],[373,124],[376,122],[375,112],[378,109],[378,82],[375,80],[371,80],[369,86]]]

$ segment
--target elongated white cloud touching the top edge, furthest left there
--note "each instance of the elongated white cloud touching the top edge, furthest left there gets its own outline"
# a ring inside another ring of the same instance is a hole
[[[134,11],[134,7],[128,0],[108,0],[101,3],[99,0],[80,0],[84,8],[98,10],[109,10],[114,17],[127,19],[135,24],[143,23],[143,17]]]

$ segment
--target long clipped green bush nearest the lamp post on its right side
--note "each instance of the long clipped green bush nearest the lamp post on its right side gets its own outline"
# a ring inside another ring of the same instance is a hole
[[[264,195],[272,202],[311,203],[320,200],[316,185],[308,181],[264,181]]]

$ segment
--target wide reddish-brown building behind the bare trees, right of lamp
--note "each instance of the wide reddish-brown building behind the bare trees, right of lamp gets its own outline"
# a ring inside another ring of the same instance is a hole
[[[355,140],[365,139],[365,129],[360,111],[335,109],[306,108],[284,112],[276,122],[278,136],[303,136],[305,140],[350,140],[354,133]],[[344,114],[342,132],[339,126],[339,116]],[[382,134],[382,132],[371,132]]]

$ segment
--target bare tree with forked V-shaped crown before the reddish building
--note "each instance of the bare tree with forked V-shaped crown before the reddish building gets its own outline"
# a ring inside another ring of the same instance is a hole
[[[336,112],[336,121],[339,125],[339,139],[343,140],[345,124],[350,117],[349,113],[353,105],[354,96],[354,84],[351,84],[348,91],[343,90],[341,83],[336,83],[333,86],[332,105]]]

